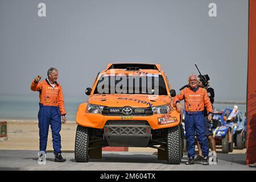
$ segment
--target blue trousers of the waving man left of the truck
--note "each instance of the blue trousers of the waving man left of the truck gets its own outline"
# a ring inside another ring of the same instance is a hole
[[[61,154],[61,117],[59,107],[44,106],[41,103],[39,103],[39,106],[38,127],[40,151],[46,152],[49,125],[51,125],[54,154]]]

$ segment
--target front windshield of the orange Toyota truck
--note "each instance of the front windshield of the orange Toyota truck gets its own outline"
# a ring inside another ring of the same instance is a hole
[[[166,84],[161,75],[110,76],[102,75],[94,94],[151,94],[167,95]]]

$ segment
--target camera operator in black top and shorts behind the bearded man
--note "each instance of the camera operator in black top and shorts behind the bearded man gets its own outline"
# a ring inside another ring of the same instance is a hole
[[[210,98],[210,102],[211,104],[213,104],[214,102],[214,89],[211,88],[209,86],[209,77],[208,75],[199,75],[198,76],[198,80],[199,80],[199,86],[201,88],[204,88],[207,90],[208,96]],[[207,114],[207,110],[206,108],[204,109],[204,117],[205,117],[205,135],[207,136],[209,145],[210,145],[210,150],[212,150],[212,162],[217,162],[217,154],[216,154],[216,143],[213,137],[213,130],[212,130],[212,123],[207,121],[208,118],[208,114]],[[203,161],[203,154],[202,154],[202,150],[200,147],[200,144],[198,142],[198,140],[196,140],[197,143],[197,147],[199,150],[199,155],[195,158],[195,162],[196,161]]]

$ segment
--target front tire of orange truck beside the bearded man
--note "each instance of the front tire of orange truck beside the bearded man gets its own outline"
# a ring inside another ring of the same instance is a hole
[[[167,130],[167,162],[169,164],[180,164],[181,161],[181,135],[180,126],[174,126]]]

